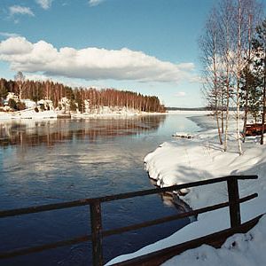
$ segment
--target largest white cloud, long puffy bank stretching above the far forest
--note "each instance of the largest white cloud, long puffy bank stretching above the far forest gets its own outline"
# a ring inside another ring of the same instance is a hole
[[[30,43],[11,37],[0,43],[0,60],[15,71],[65,76],[86,80],[131,80],[138,82],[179,82],[192,78],[192,63],[173,64],[143,51],[63,47],[51,43]]]

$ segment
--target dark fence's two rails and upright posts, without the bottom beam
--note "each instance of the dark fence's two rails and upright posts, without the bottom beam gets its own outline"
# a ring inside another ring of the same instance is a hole
[[[68,201],[63,203],[57,203],[57,204],[49,204],[49,205],[43,205],[43,206],[36,206],[36,207],[26,207],[26,208],[19,208],[19,209],[12,209],[12,210],[3,210],[0,211],[0,218],[4,217],[10,217],[10,216],[17,216],[17,215],[27,215],[27,214],[34,214],[44,211],[51,211],[51,210],[57,210],[67,207],[78,207],[78,206],[87,206],[90,205],[90,223],[91,223],[91,235],[85,235],[81,237],[77,237],[74,239],[66,239],[58,242],[49,243],[42,246],[34,246],[34,247],[26,247],[21,249],[15,249],[9,252],[4,252],[0,254],[0,259],[7,259],[12,258],[14,256],[23,255],[23,254],[32,254],[41,252],[43,250],[56,248],[59,246],[68,246],[68,245],[74,245],[77,243],[85,242],[85,241],[91,241],[92,242],[92,257],[93,257],[93,265],[94,266],[102,266],[103,261],[103,247],[102,247],[102,239],[104,237],[108,237],[114,234],[121,234],[122,232],[126,231],[132,231],[141,229],[144,227],[148,227],[151,225],[159,224],[159,223],[166,223],[169,221],[174,221],[177,219],[182,219],[184,217],[189,217],[192,215],[199,215],[205,212],[213,211],[219,208],[223,207],[229,207],[230,208],[230,221],[231,221],[231,229],[235,229],[235,231],[239,228],[241,225],[241,217],[240,217],[240,203],[245,202],[247,200],[252,200],[255,197],[257,197],[257,193],[248,195],[244,198],[239,199],[239,184],[238,180],[244,180],[244,179],[257,179],[258,176],[224,176],[224,177],[218,177],[214,179],[207,179],[203,181],[198,182],[192,182],[188,184],[177,184],[170,187],[165,188],[156,188],[152,190],[145,190],[145,191],[139,191],[139,192],[128,192],[128,193],[122,193],[117,195],[111,195],[101,198],[94,198],[94,199],[84,199],[84,200],[74,200],[74,201]],[[215,204],[208,207],[202,207],[196,210],[192,210],[189,212],[185,212],[178,215],[170,215],[167,217],[163,217],[160,219],[148,221],[145,223],[137,223],[133,225],[129,225],[126,227],[121,227],[117,229],[107,230],[103,231],[102,227],[102,211],[101,211],[101,205],[104,202],[112,201],[112,200],[122,200],[122,199],[129,199],[134,197],[140,197],[145,195],[152,195],[156,193],[161,192],[173,192],[173,191],[179,191],[184,188],[191,188],[195,186],[201,186],[201,185],[207,185],[207,184],[215,184],[215,183],[221,183],[226,182],[227,188],[228,188],[228,198],[229,200],[226,202],[222,202],[219,204]],[[224,234],[223,234],[224,236]],[[197,239],[196,239],[197,240]],[[1,239],[0,239],[1,241]],[[184,243],[186,244],[186,243]],[[193,246],[193,245],[191,245]],[[189,248],[188,246],[187,248]],[[160,254],[160,253],[158,253]],[[160,254],[161,255],[161,254]],[[155,254],[156,256],[156,254]],[[154,257],[154,256],[153,256]],[[146,257],[145,257],[146,260]],[[149,258],[148,258],[149,260]],[[149,264],[145,262],[144,264],[140,264],[140,262],[129,262],[127,264],[126,262],[123,262],[121,264],[117,265],[155,265],[155,264]]]

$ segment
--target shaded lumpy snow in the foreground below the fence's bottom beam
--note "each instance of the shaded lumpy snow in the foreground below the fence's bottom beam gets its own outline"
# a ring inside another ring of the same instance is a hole
[[[235,234],[227,239],[223,246],[215,249],[203,245],[199,248],[188,250],[174,257],[164,266],[190,265],[190,266],[258,266],[266,262],[266,216],[262,216],[259,223],[246,234]]]

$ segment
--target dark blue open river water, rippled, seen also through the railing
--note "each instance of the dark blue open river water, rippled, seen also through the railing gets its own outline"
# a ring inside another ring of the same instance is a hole
[[[199,128],[182,115],[86,121],[0,121],[0,209],[153,188],[143,159],[176,131]],[[103,204],[104,230],[176,214],[153,195]],[[104,256],[136,251],[188,223],[165,223],[104,239]],[[0,219],[0,252],[90,234],[90,208]],[[90,242],[0,260],[0,265],[91,265]]]

